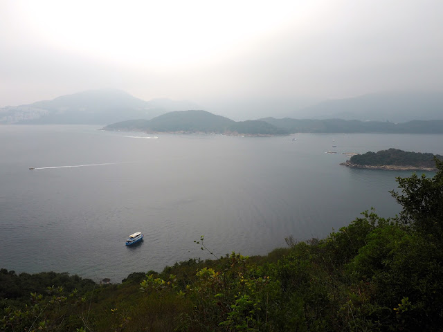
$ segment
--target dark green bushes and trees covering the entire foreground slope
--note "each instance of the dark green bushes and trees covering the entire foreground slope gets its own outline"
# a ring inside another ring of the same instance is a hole
[[[1,331],[442,331],[443,162],[397,178],[399,216],[363,212],[262,257],[189,259],[96,285],[0,270]]]

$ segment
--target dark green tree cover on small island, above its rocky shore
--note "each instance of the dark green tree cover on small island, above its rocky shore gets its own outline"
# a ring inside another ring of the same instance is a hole
[[[443,156],[436,155],[436,158],[443,159]],[[366,152],[357,154],[350,158],[353,165],[396,165],[410,167],[435,167],[433,154],[422,154],[420,152],[408,152],[399,149],[388,149],[376,152]]]

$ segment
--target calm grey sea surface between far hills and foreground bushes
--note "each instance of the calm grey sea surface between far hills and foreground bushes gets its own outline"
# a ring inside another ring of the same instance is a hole
[[[217,256],[263,255],[291,234],[325,237],[371,207],[399,212],[388,190],[411,173],[339,166],[342,152],[443,154],[437,135],[146,138],[98,129],[0,126],[1,268],[120,282],[209,258],[193,242],[201,235]],[[143,243],[125,246],[136,231]]]

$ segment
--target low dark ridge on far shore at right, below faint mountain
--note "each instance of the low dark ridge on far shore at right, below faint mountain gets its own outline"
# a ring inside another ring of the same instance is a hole
[[[443,133],[443,120],[413,120],[404,123],[341,119],[263,118],[260,120],[291,133]]]

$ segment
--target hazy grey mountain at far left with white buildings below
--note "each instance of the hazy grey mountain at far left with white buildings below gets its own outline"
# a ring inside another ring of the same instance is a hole
[[[134,118],[150,119],[169,111],[195,108],[192,102],[135,98],[116,89],[83,91],[53,100],[0,109],[0,123],[106,124]]]

